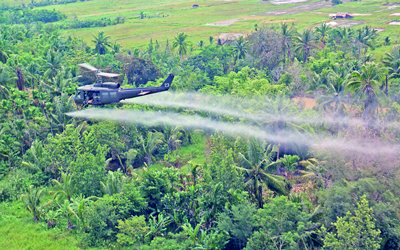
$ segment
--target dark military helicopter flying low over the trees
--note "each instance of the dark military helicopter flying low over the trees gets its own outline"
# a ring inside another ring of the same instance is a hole
[[[104,105],[118,103],[124,99],[167,91],[174,80],[174,75],[170,73],[168,74],[167,79],[165,79],[163,84],[161,84],[159,87],[123,89],[117,82],[103,83],[102,81],[102,76],[113,78],[120,76],[120,74],[101,72],[96,67],[93,67],[87,63],[78,64],[78,66],[94,72],[97,77],[97,82],[95,84],[85,85],[76,90],[76,94],[73,96],[73,99],[76,104],[82,105]]]

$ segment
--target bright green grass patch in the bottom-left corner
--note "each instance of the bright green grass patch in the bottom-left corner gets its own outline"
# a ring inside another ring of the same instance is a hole
[[[32,218],[20,202],[0,203],[0,249],[81,249],[73,235],[47,230],[46,223],[34,222]]]

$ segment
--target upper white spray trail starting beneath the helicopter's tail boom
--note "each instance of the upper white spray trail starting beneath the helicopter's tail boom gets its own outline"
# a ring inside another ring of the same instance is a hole
[[[226,96],[214,96],[200,93],[163,92],[157,96],[143,96],[123,101],[123,103],[144,104],[169,108],[188,108],[220,115],[229,115],[254,121],[285,121],[308,124],[345,124],[366,126],[362,119],[321,115],[315,118],[302,118],[295,115],[276,114],[269,111],[263,103],[266,99],[239,99]],[[250,112],[248,112],[250,111]],[[371,124],[369,124],[371,126]],[[372,125],[377,127],[377,125]]]

